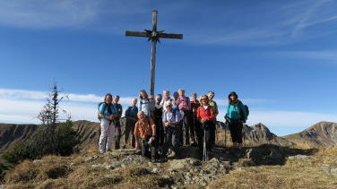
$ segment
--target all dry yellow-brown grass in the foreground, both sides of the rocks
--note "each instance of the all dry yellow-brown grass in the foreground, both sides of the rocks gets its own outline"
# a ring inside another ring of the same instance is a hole
[[[74,154],[62,158],[48,156],[42,161],[24,161],[6,176],[9,188],[160,188],[173,185],[183,176],[153,174],[147,164],[127,168],[107,169],[92,167],[109,162],[104,154],[93,161],[93,152]],[[324,164],[337,163],[337,147],[320,150],[309,159],[288,159],[284,166],[260,166],[248,159],[248,167],[235,169],[209,185],[209,188],[337,188],[337,178],[327,176],[319,168]],[[245,163],[243,163],[245,164]],[[161,169],[168,164],[161,164]],[[189,185],[188,188],[200,188]]]

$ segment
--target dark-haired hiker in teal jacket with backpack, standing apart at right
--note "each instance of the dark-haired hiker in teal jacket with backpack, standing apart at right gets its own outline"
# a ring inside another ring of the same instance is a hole
[[[227,117],[226,117],[227,116]],[[248,113],[246,107],[240,100],[236,92],[229,93],[229,107],[225,118],[229,119],[229,131],[235,148],[242,147],[242,128],[246,123]]]

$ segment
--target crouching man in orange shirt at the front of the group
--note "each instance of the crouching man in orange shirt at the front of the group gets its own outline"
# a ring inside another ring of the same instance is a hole
[[[150,158],[151,161],[155,161],[156,148],[155,142],[156,139],[156,125],[154,125],[151,117],[146,117],[143,111],[139,111],[138,114],[138,122],[134,126],[134,136],[136,147],[142,147],[142,155]],[[139,140],[141,137],[141,140]],[[141,141],[141,144],[139,143]],[[151,150],[151,156],[149,154],[149,150]]]

